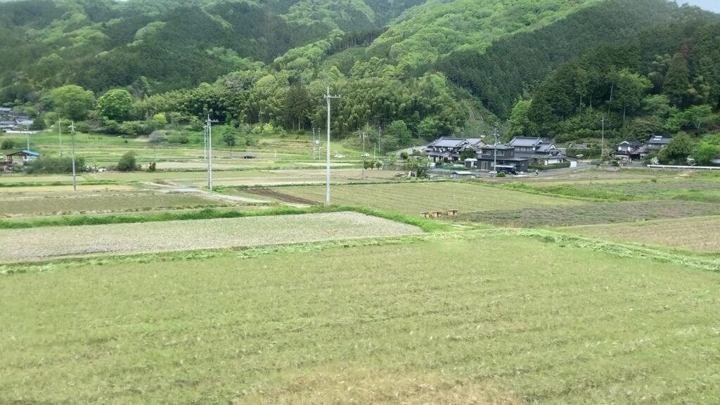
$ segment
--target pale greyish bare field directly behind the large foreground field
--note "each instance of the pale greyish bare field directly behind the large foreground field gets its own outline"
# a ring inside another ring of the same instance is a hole
[[[215,249],[419,232],[415,226],[359,213],[9,229],[0,230],[0,259]]]

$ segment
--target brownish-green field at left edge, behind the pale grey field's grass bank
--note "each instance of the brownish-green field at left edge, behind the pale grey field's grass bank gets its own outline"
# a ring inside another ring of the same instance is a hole
[[[192,193],[149,192],[80,192],[40,195],[6,195],[0,197],[0,217],[18,215],[57,215],[71,213],[112,213],[161,208],[203,208],[223,205]]]

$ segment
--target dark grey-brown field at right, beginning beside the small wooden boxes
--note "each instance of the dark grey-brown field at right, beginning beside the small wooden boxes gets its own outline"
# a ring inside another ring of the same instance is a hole
[[[540,207],[460,213],[454,219],[460,222],[535,228],[539,226],[558,227],[627,223],[702,215],[720,215],[720,204],[680,200],[588,203],[570,207]]]

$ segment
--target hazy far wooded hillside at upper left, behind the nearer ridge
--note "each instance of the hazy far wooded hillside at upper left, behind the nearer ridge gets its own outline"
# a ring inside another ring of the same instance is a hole
[[[0,85],[156,91],[271,62],[330,32],[378,30],[421,0],[27,0],[0,4]],[[19,77],[20,76],[20,77]]]

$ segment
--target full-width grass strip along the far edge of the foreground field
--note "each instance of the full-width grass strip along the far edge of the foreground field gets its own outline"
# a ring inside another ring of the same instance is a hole
[[[343,239],[334,241],[303,242],[300,244],[274,244],[268,246],[195,249],[180,252],[158,252],[140,254],[113,254],[102,257],[68,257],[64,259],[43,259],[33,262],[17,262],[0,264],[0,275],[22,273],[39,273],[81,265],[97,265],[109,263],[150,263],[156,261],[176,262],[202,260],[233,254],[238,259],[253,259],[268,254],[291,252],[322,252],[328,249],[352,249],[363,246],[404,245],[423,241],[473,240],[482,239],[485,243],[505,236],[520,236],[540,239],[545,243],[590,249],[595,252],[611,254],[627,259],[646,259],[661,263],[681,264],[696,270],[720,272],[720,257],[698,254],[697,252],[678,252],[659,247],[624,244],[617,241],[604,241],[585,236],[573,235],[557,231],[546,231],[529,228],[492,228],[474,231],[456,231],[440,233],[424,233],[408,236],[387,236],[361,239]]]

